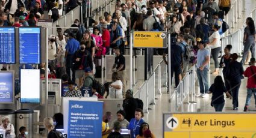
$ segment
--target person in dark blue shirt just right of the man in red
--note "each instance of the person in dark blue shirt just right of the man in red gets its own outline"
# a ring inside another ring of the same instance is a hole
[[[121,38],[123,37],[122,28],[118,25],[117,22],[113,22],[112,29],[110,32],[111,44],[115,44],[117,47],[122,43]]]

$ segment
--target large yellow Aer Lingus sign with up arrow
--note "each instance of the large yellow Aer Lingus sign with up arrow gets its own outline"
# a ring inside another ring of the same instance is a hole
[[[164,137],[256,138],[256,113],[164,113]]]

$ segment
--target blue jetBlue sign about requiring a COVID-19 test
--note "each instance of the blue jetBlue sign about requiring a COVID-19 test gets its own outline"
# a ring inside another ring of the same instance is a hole
[[[103,102],[69,101],[67,137],[101,137]]]

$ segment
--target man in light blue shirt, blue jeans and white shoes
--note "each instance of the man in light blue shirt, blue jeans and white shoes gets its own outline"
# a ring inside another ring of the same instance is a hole
[[[196,74],[198,75],[198,82],[200,87],[200,94],[196,97],[208,97],[208,71],[209,71],[209,62],[210,62],[210,53],[205,49],[205,42],[198,42],[198,53],[196,55]]]

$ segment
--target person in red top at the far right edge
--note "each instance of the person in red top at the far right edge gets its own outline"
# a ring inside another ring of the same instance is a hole
[[[250,60],[251,66],[246,68],[245,72],[243,73],[245,77],[248,77],[247,80],[247,96],[245,101],[245,109],[243,111],[248,111],[248,106],[251,103],[251,97],[254,95],[255,105],[256,105],[256,67],[255,67],[255,58],[251,58]]]

